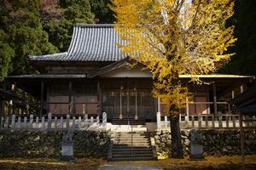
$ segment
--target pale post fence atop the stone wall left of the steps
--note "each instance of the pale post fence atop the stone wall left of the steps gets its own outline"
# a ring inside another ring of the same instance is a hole
[[[27,117],[15,116],[1,117],[0,128],[18,130],[47,130],[47,131],[63,131],[63,130],[97,130],[105,129],[107,127],[107,113],[102,113],[102,119],[99,116],[93,117],[84,115],[79,116],[52,116],[51,113],[48,116],[34,117],[33,115]]]

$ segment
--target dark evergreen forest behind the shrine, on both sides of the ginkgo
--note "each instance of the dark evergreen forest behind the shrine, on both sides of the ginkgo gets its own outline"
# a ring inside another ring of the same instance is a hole
[[[28,55],[66,52],[73,25],[112,24],[110,0],[0,0],[0,81],[8,75],[37,73]],[[256,1],[235,0],[236,53],[221,65],[225,74],[256,75]]]

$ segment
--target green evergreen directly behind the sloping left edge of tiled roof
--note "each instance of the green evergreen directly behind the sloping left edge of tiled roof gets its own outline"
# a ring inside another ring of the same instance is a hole
[[[44,30],[49,34],[52,42],[61,52],[67,51],[72,34],[73,25],[77,23],[93,23],[94,15],[90,13],[89,0],[60,0],[63,10],[60,20],[50,20]]]

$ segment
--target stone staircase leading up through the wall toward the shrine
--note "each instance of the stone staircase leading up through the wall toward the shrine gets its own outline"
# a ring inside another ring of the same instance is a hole
[[[156,160],[148,133],[114,133],[108,161]]]

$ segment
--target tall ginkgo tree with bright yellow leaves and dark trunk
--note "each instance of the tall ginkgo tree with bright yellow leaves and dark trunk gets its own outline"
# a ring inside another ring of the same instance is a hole
[[[154,80],[154,96],[170,115],[172,157],[183,158],[179,109],[188,96],[179,75],[216,71],[216,63],[229,59],[233,27],[225,22],[233,14],[232,0],[113,0],[115,29],[127,43],[122,48],[143,63]]]

